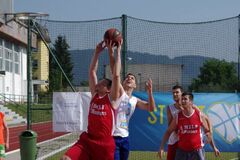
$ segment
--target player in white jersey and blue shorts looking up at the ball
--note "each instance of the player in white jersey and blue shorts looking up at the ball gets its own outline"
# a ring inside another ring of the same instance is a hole
[[[112,42],[107,42],[107,47],[109,50],[110,57],[110,68],[114,66],[114,52]],[[123,80],[122,85],[120,86],[119,95],[120,98],[118,101],[119,106],[115,110],[116,118],[116,127],[113,133],[116,149],[115,149],[115,160],[127,160],[129,156],[129,120],[135,110],[139,108],[146,111],[153,111],[155,107],[155,102],[152,94],[152,80],[149,79],[146,83],[147,93],[148,93],[148,102],[138,99],[132,96],[132,92],[136,88],[136,77],[129,73]]]

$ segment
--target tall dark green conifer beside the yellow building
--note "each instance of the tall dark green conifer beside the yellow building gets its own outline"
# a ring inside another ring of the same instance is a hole
[[[52,48],[53,54],[56,56],[58,62],[63,68],[70,82],[73,80],[73,64],[71,62],[70,53],[68,51],[69,45],[64,36],[58,36]],[[59,91],[69,86],[66,78],[58,67],[52,56],[49,58],[49,90]]]

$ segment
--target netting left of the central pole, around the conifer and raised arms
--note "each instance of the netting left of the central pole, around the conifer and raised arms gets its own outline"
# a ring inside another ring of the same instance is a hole
[[[82,82],[88,81],[88,68],[96,44],[103,39],[103,34],[108,28],[114,27],[121,30],[121,19],[84,22],[47,21],[45,26],[52,43],[57,36],[65,36],[74,64],[73,84],[79,86]],[[109,64],[107,54],[104,55],[99,60],[99,77],[103,77],[104,64]]]

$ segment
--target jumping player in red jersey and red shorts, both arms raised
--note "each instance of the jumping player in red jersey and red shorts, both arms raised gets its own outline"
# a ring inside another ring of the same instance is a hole
[[[114,128],[113,109],[118,107],[121,45],[117,44],[117,57],[112,74],[112,82],[103,79],[97,82],[98,57],[106,47],[102,41],[96,47],[89,69],[89,87],[92,94],[88,115],[88,130],[62,157],[62,160],[113,160],[115,142],[112,137]],[[112,85],[111,85],[112,83]]]

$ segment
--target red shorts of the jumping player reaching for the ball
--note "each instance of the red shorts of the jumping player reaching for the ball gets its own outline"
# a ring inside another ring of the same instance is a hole
[[[65,153],[72,160],[113,160],[115,142],[113,137],[91,139],[83,132],[80,139]]]

